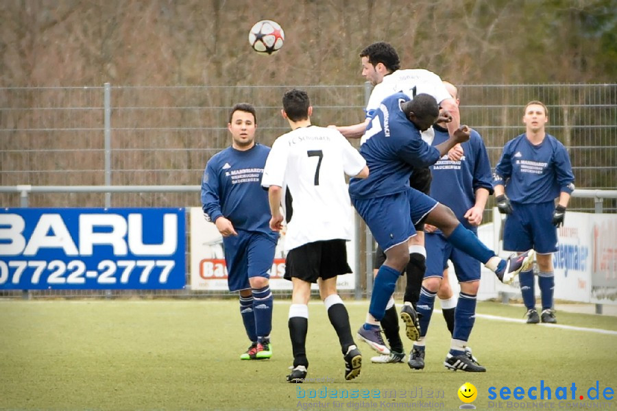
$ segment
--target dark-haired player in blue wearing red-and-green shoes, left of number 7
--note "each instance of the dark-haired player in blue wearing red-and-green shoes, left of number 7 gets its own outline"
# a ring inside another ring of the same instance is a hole
[[[271,358],[272,292],[269,271],[278,233],[269,227],[261,175],[270,151],[255,142],[257,118],[249,103],[234,105],[227,128],[232,145],[213,155],[202,179],[202,208],[223,236],[230,291],[240,293],[240,313],[251,340],[241,360]]]

